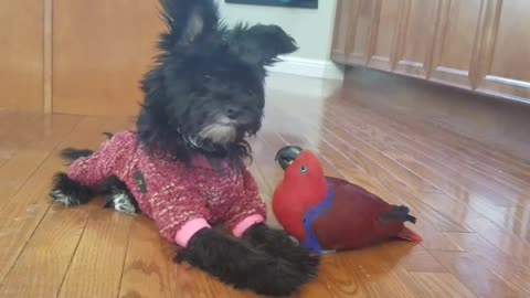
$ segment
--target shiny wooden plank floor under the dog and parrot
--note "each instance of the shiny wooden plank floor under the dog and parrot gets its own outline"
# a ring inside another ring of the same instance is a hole
[[[530,161],[456,126],[372,108],[369,93],[335,88],[295,77],[271,85],[253,141],[264,198],[282,179],[276,150],[299,145],[319,153],[328,174],[411,206],[424,242],[327,256],[300,297],[530,297]],[[145,217],[102,202],[51,204],[51,177],[65,169],[61,148],[97,148],[102,131],[131,125],[0,114],[0,297],[253,297],[174,265]]]

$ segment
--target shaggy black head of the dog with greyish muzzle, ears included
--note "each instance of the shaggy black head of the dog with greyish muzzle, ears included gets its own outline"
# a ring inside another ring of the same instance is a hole
[[[221,23],[214,0],[161,0],[168,32],[142,81],[140,140],[178,159],[247,156],[265,105],[265,66],[297,50],[277,25]]]

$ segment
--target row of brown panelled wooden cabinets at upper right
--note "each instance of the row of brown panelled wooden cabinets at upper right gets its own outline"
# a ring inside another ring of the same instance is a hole
[[[530,103],[530,1],[339,0],[333,61]]]

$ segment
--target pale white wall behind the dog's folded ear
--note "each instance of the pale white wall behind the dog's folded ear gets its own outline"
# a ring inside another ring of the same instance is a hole
[[[300,47],[292,56],[328,61],[333,36],[337,0],[320,0],[316,9],[290,9],[226,3],[218,0],[224,20],[274,23],[293,35]]]

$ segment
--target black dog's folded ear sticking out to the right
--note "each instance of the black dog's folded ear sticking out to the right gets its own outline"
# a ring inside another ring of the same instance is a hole
[[[262,66],[273,64],[278,55],[298,50],[295,39],[278,25],[237,24],[231,33],[230,42],[234,51],[245,61]]]

